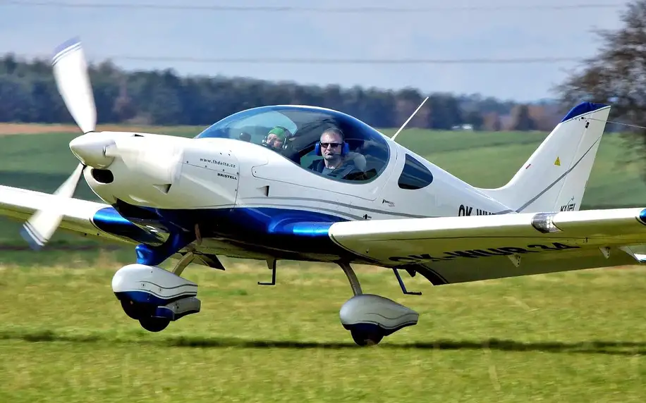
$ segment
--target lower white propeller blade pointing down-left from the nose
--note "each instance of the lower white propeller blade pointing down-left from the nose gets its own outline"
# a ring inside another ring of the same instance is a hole
[[[74,195],[78,181],[83,175],[83,168],[85,168],[83,163],[79,163],[72,175],[54,192],[53,203],[49,204],[47,209],[36,211],[23,224],[20,235],[30,244],[32,249],[44,247],[51,235],[54,235],[56,228],[59,228],[63,218],[61,213],[63,203]]]

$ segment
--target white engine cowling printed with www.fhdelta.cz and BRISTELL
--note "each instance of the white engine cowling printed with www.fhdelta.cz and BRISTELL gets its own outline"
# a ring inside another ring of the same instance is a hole
[[[157,209],[231,207],[240,168],[231,142],[138,135],[106,145],[106,168],[84,171],[92,191],[109,204],[117,200]]]

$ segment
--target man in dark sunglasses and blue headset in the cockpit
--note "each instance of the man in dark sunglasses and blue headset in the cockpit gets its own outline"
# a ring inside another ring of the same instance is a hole
[[[317,154],[322,155],[322,160],[314,161],[309,168],[323,175],[331,175],[336,178],[350,179],[355,175],[361,175],[363,170],[357,166],[357,157],[364,158],[361,154],[348,152],[348,145],[344,141],[343,132],[337,128],[325,130],[320,142]],[[353,155],[351,155],[353,154]],[[365,161],[365,159],[364,159]],[[348,176],[350,175],[350,176]]]

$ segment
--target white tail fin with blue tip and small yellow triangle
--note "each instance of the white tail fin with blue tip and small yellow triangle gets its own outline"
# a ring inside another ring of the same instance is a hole
[[[609,113],[608,105],[578,104],[506,185],[480,191],[518,213],[580,209]]]

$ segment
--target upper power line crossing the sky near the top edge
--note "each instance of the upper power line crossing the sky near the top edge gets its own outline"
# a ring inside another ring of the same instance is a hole
[[[360,6],[360,7],[307,7],[307,6],[193,6],[188,4],[132,4],[132,3],[70,3],[67,1],[44,0],[3,0],[0,4],[17,6],[50,6],[66,8],[147,8],[155,10],[210,10],[210,11],[235,11],[235,12],[279,12],[279,13],[437,13],[442,11],[539,11],[539,10],[580,10],[583,8],[620,8],[622,4],[612,3],[582,3],[582,4],[516,4],[506,6],[427,6],[427,7],[388,7],[388,6]]]

